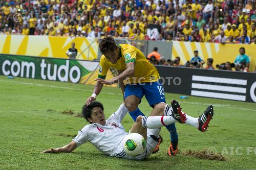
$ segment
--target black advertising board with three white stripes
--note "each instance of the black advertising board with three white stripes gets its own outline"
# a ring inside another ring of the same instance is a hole
[[[256,74],[156,66],[165,92],[256,102]]]

